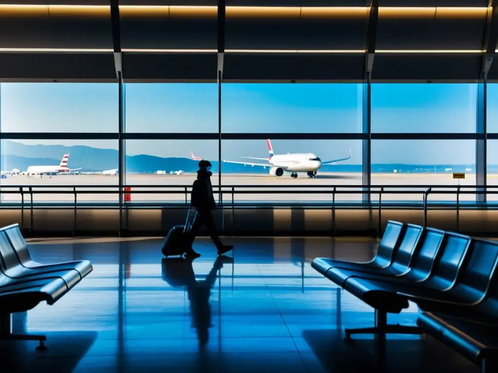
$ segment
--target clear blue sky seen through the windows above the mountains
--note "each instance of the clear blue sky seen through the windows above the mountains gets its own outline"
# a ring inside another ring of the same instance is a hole
[[[2,132],[117,132],[117,84],[2,83]],[[127,84],[128,132],[217,132],[216,84]],[[358,133],[362,123],[362,86],[357,84],[224,84],[224,132]],[[498,132],[498,85],[489,85],[488,128]],[[475,84],[374,84],[373,132],[474,132]],[[25,144],[89,145],[117,148],[104,140],[16,140]],[[498,147],[489,144],[489,163],[498,164]],[[275,153],[316,153],[322,159],[353,152],[361,163],[361,141],[274,140]],[[126,153],[161,157],[216,159],[217,141],[129,141]],[[222,156],[266,157],[264,140],[227,140]],[[2,149],[8,153],[8,149]],[[40,155],[43,157],[43,155]],[[373,163],[472,164],[472,140],[377,140]]]

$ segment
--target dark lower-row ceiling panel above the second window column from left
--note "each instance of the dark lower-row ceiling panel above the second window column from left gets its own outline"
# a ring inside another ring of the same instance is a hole
[[[123,53],[125,82],[217,81],[216,53]]]

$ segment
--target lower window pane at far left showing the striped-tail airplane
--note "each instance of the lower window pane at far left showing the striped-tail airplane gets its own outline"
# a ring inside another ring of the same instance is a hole
[[[27,202],[30,199],[27,191],[32,187],[35,202],[74,202],[73,187],[78,186],[80,202],[118,201],[117,169],[118,140],[1,140],[1,172],[6,175],[0,179],[1,199],[21,201],[19,187],[23,187]],[[111,172],[114,170],[116,172]],[[112,175],[99,175],[104,171]],[[53,193],[37,193],[42,190]],[[104,190],[115,193],[105,194]]]

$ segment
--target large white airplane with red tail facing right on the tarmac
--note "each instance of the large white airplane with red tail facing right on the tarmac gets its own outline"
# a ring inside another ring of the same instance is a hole
[[[336,159],[333,161],[322,161],[313,153],[291,153],[291,154],[273,154],[273,149],[271,147],[271,142],[266,139],[266,144],[268,145],[269,156],[266,158],[254,158],[254,157],[241,157],[247,159],[257,159],[257,160],[267,160],[268,163],[250,163],[250,162],[236,162],[236,161],[226,161],[226,163],[237,163],[241,165],[249,166],[262,166],[264,168],[270,167],[270,175],[281,177],[284,172],[290,172],[292,178],[297,178],[298,172],[305,172],[310,178],[314,178],[317,171],[322,167],[322,165],[333,164],[340,161],[346,161],[351,158],[351,149],[349,150],[349,157]],[[192,154],[193,156],[193,154]]]

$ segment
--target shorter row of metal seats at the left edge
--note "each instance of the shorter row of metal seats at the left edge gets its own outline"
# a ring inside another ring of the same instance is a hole
[[[54,304],[92,270],[89,261],[36,263],[18,224],[0,228],[0,340],[39,341],[36,349],[45,350],[44,335],[11,333],[11,314],[28,311],[42,301]]]

